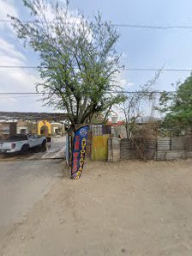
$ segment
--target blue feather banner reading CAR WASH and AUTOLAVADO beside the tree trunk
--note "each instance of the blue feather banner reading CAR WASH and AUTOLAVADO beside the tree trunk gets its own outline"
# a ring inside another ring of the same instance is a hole
[[[74,149],[72,154],[71,179],[76,180],[81,177],[86,154],[87,132],[89,126],[82,126],[75,131]]]

